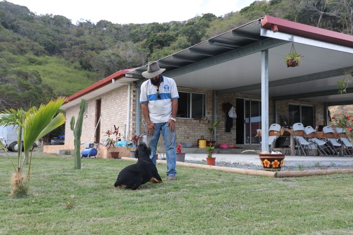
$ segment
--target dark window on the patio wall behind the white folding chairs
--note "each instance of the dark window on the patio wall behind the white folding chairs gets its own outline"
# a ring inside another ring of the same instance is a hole
[[[304,126],[314,126],[314,106],[289,104],[289,125],[296,122],[301,122]]]

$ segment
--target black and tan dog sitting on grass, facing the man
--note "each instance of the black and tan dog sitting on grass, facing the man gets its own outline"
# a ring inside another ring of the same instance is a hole
[[[135,152],[137,163],[122,169],[114,186],[135,190],[147,182],[163,183],[157,168],[150,159],[150,154],[151,150],[147,145],[140,144]]]

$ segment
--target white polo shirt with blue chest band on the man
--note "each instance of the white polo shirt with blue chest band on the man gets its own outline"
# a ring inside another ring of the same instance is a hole
[[[141,85],[140,103],[148,103],[150,120],[153,123],[167,122],[172,118],[172,99],[179,98],[176,83],[172,78],[161,75],[159,85],[160,99],[157,97],[157,86],[147,80]]]

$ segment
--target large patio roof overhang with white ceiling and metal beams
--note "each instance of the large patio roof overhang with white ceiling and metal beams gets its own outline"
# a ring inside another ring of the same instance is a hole
[[[299,67],[287,68],[292,43],[302,54]],[[337,81],[353,71],[353,36],[271,16],[250,22],[158,63],[177,86],[216,90],[217,94],[261,95],[261,51],[269,51],[269,95],[346,104],[353,93],[338,94]],[[128,72],[141,78],[147,65]],[[353,88],[349,84],[348,90]],[[312,95],[310,95],[312,94]]]

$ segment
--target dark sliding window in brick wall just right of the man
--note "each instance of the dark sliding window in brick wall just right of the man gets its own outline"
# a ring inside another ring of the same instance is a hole
[[[206,116],[206,95],[179,92],[178,118],[204,118]]]

